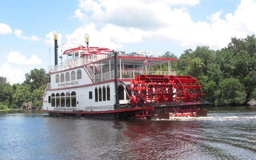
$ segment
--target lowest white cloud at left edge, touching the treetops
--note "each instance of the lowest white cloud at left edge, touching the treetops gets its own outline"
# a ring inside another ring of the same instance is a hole
[[[8,63],[5,63],[0,68],[0,76],[7,77],[7,81],[13,83],[22,83],[25,75],[22,69],[12,68]]]

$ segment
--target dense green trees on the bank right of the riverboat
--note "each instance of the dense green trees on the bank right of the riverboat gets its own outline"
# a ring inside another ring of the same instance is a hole
[[[231,38],[227,47],[188,49],[178,58],[170,52],[159,56],[176,58],[172,70],[199,80],[204,99],[215,106],[256,105],[256,38]],[[167,66],[166,66],[167,68]]]

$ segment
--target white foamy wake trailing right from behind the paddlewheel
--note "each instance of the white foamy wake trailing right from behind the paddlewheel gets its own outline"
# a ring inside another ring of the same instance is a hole
[[[240,119],[256,119],[256,116],[238,117],[238,116],[226,116],[226,117],[170,117],[169,119],[153,119],[153,120],[169,120],[169,121],[190,121],[190,120],[240,120]]]

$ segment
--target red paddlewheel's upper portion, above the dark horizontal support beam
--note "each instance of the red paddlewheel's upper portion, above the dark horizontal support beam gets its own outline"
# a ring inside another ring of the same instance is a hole
[[[192,76],[138,75],[131,80],[131,88],[153,105],[203,101],[201,85]],[[147,106],[137,98],[142,107]]]

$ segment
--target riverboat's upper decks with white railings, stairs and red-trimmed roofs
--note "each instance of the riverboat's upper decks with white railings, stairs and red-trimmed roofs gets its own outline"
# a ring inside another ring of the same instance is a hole
[[[97,51],[97,49],[99,49]],[[86,49],[83,46],[66,50],[63,54],[68,56],[68,60],[58,65],[48,67],[48,74],[63,72],[79,67],[83,67],[92,82],[100,82],[114,79],[114,53],[107,48],[91,47]],[[171,62],[176,59],[146,57],[136,52],[125,54],[118,52],[118,78],[133,79],[135,75],[176,75],[171,70]],[[162,70],[162,64],[168,64],[168,70]],[[159,65],[159,67],[154,67]],[[158,68],[158,69],[153,69]]]

